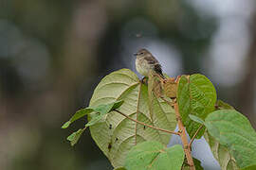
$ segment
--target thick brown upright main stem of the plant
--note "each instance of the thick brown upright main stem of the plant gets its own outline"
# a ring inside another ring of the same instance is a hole
[[[179,129],[179,132],[181,132],[181,134],[180,134],[181,142],[183,144],[183,149],[184,149],[188,164],[190,165],[190,170],[195,170],[195,167],[194,167],[194,164],[192,161],[191,148],[189,147],[189,142],[188,142],[185,127],[183,126],[183,123],[181,121],[180,113],[178,111],[177,102],[174,103],[174,110],[175,110],[176,119],[177,119],[177,123],[178,123],[178,129]]]

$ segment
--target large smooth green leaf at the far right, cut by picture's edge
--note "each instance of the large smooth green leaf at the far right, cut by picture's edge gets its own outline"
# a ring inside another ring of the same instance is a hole
[[[256,132],[236,110],[216,110],[205,119],[210,136],[226,146],[240,168],[256,164]]]

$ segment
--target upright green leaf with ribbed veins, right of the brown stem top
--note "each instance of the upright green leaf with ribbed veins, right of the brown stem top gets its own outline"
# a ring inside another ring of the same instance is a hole
[[[178,82],[177,103],[182,122],[190,137],[194,135],[200,124],[194,122],[189,114],[205,119],[215,110],[217,96],[210,80],[203,75],[181,76]],[[201,138],[205,128],[202,128],[196,138]]]

